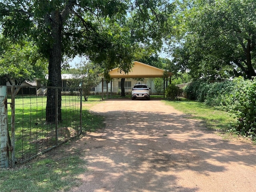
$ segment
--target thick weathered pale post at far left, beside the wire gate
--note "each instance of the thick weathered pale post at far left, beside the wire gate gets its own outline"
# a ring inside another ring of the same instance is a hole
[[[9,167],[8,126],[7,126],[7,87],[0,86],[0,167]]]

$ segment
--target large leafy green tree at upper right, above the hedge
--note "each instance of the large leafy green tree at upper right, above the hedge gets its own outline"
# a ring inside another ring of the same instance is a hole
[[[193,0],[180,4],[174,62],[194,78],[255,76],[254,0]],[[178,47],[177,47],[178,45]]]

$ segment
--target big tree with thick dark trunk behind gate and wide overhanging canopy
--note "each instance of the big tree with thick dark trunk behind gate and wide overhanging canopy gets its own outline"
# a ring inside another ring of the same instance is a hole
[[[128,10],[132,12],[127,14]],[[49,61],[48,86],[59,87],[64,56],[87,55],[102,65],[107,80],[112,66],[128,72],[135,46],[160,48],[162,38],[171,29],[168,20],[172,11],[168,0],[4,0],[0,2],[0,22],[5,36],[14,40],[26,36],[37,44]],[[125,27],[128,17],[132,17],[132,25]],[[112,32],[113,26],[116,32]],[[132,39],[128,44],[127,37]],[[48,90],[49,123],[55,121],[55,97],[55,92]]]

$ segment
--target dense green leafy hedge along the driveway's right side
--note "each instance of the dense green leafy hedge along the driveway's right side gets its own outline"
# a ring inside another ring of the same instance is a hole
[[[256,140],[256,80],[242,77],[224,82],[206,83],[200,80],[186,88],[190,98],[205,102],[235,114],[235,131]]]

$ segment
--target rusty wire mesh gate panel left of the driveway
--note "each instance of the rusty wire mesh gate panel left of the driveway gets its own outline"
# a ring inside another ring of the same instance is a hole
[[[8,93],[10,166],[24,164],[81,133],[79,88],[12,86]]]

